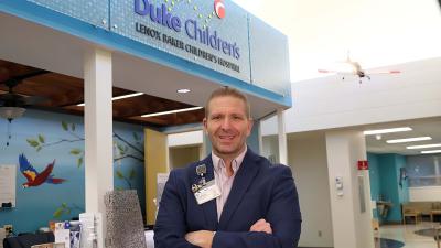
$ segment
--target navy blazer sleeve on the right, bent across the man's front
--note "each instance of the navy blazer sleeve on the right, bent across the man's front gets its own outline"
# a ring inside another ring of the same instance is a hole
[[[294,248],[298,246],[302,219],[291,170],[286,165],[276,165],[270,170],[277,170],[266,215],[272,234],[216,231],[213,248]]]

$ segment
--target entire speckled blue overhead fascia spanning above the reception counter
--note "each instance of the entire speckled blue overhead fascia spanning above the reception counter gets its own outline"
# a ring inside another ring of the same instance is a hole
[[[230,0],[14,0],[6,3],[20,9],[20,2],[72,17],[108,31],[105,33],[109,37],[123,36],[219,72],[240,84],[251,83],[277,94],[276,97],[281,96],[283,105],[291,105],[287,36]],[[30,10],[29,6],[23,9]],[[77,28],[74,25],[73,30]],[[99,29],[89,37],[94,40],[95,34],[103,37]],[[136,50],[139,54],[144,52],[142,45]]]

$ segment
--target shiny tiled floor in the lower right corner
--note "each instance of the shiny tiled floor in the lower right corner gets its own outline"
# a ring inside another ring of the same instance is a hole
[[[405,242],[402,248],[437,248],[433,237],[416,235],[413,231],[432,228],[431,223],[420,223],[418,225],[396,225],[380,226],[376,237],[388,238]],[[438,224],[437,224],[438,225]]]

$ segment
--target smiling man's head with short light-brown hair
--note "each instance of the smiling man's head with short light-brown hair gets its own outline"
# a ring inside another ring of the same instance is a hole
[[[203,122],[213,152],[224,160],[236,158],[244,151],[252,128],[247,97],[228,87],[214,90],[206,103]]]

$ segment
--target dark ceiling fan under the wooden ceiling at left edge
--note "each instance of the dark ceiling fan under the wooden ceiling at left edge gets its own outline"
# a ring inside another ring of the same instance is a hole
[[[17,94],[13,91],[13,88],[25,79],[47,73],[50,72],[41,69],[14,77],[3,75],[2,78],[6,77],[7,79],[0,82],[0,85],[4,84],[8,87],[8,91],[0,95],[0,117],[11,122],[12,119],[21,117],[24,114],[25,107],[46,100],[46,98],[41,96],[23,96]]]

